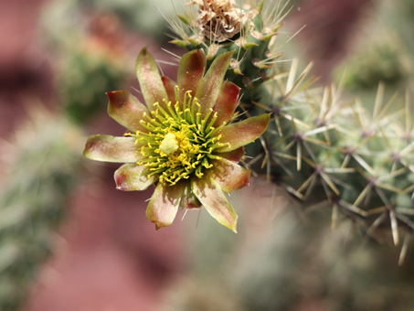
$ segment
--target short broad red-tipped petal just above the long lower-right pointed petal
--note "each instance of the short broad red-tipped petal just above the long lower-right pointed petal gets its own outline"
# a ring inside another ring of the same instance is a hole
[[[208,174],[218,182],[224,192],[231,192],[249,186],[250,170],[226,159],[214,161]]]

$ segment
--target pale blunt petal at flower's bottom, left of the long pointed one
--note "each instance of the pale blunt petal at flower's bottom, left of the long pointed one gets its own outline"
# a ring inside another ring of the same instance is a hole
[[[185,183],[165,186],[159,183],[146,209],[146,218],[154,222],[156,230],[169,226],[175,219]]]

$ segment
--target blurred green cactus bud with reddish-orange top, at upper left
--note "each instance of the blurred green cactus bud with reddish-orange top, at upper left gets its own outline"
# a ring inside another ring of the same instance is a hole
[[[91,17],[86,36],[68,46],[59,59],[59,102],[77,123],[101,113],[105,91],[121,89],[128,77],[127,56],[118,27],[115,16]]]

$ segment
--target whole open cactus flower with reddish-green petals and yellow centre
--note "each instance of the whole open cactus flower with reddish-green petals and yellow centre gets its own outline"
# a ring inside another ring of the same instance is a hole
[[[160,76],[146,48],[136,73],[146,103],[128,91],[111,91],[108,113],[128,129],[123,137],[93,135],[84,155],[124,163],[116,187],[144,190],[155,185],[146,216],[156,229],[171,225],[177,210],[204,206],[219,223],[236,232],[237,214],[225,193],[249,185],[250,171],[238,165],[243,145],[258,138],[270,115],[234,121],[239,87],[223,81],[233,52],[206,71],[203,50],[180,61],[177,83]]]

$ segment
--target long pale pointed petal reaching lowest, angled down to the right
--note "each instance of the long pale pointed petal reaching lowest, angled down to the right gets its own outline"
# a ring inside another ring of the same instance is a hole
[[[191,189],[208,213],[218,220],[218,223],[237,233],[238,215],[214,179],[193,177]]]

